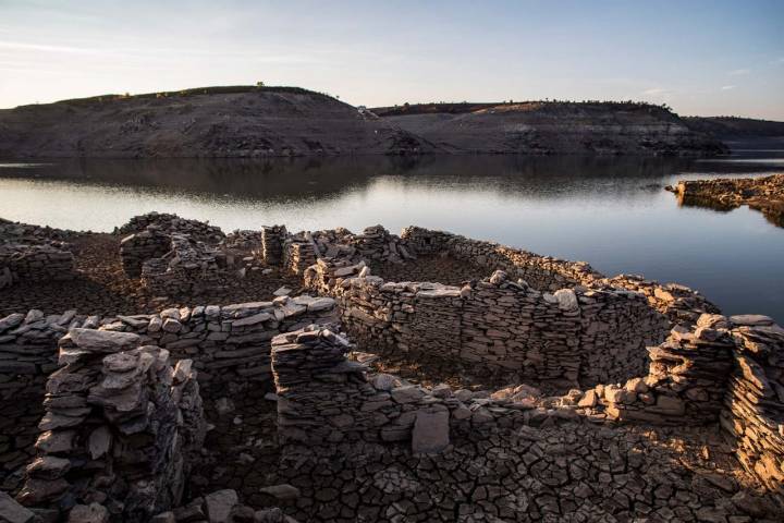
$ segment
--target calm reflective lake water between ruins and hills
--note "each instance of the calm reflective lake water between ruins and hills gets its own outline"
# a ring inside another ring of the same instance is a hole
[[[679,179],[784,171],[780,149],[711,160],[428,157],[0,162],[0,217],[111,231],[150,210],[225,231],[408,224],[700,290],[784,324],[784,229],[757,211],[679,207]],[[1,299],[1,296],[0,296]]]

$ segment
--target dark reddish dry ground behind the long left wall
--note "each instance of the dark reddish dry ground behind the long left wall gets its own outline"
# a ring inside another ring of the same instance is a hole
[[[298,277],[248,271],[234,284],[197,296],[156,296],[142,289],[138,280],[128,279],[120,260],[120,236],[84,233],[69,242],[73,246],[78,276],[72,281],[47,283],[20,282],[2,291],[0,316],[41,308],[46,314],[75,308],[79,314],[148,314],[172,306],[197,304],[225,305],[268,299],[286,285],[298,289]],[[196,303],[198,302],[198,303]]]

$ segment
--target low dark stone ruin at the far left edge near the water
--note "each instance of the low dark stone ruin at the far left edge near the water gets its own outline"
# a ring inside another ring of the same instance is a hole
[[[74,257],[64,239],[65,231],[0,219],[0,289],[73,279]]]

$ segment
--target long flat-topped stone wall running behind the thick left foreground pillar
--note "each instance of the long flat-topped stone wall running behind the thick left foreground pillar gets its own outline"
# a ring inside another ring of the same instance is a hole
[[[45,384],[59,368],[58,340],[84,328],[134,335],[143,345],[167,350],[173,361],[191,360],[201,387],[212,394],[270,387],[270,340],[287,330],[332,320],[334,300],[280,297],[225,306],[170,308],[155,315],[100,318],[75,311],[40,311],[0,319],[0,484],[19,486],[19,471],[32,460],[42,415]]]

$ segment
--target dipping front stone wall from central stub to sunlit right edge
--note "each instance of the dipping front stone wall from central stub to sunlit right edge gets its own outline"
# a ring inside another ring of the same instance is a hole
[[[353,452],[383,453],[373,446],[392,442],[439,452],[455,435],[485,437],[499,428],[706,425],[721,416],[748,472],[784,494],[784,329],[770,318],[703,315],[691,330],[676,327],[650,349],[647,374],[563,397],[542,397],[528,385],[473,392],[372,375],[346,358],[353,346],[345,337],[322,327],[281,335],[272,345],[279,431],[294,455],[346,451],[335,447],[344,443]]]

